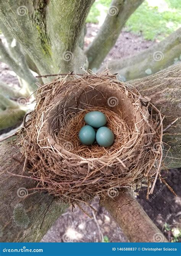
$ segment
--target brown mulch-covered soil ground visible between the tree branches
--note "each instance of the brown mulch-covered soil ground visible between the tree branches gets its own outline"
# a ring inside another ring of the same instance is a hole
[[[95,24],[87,24],[86,46],[93,40],[98,29],[99,27]],[[121,59],[135,55],[139,51],[149,48],[154,43],[153,41],[144,40],[142,36],[123,32],[105,60]],[[0,63],[0,79],[13,87],[18,86],[18,79],[16,79],[15,73],[10,71],[4,63]],[[168,188],[163,187],[163,183],[161,184],[158,180],[152,200],[146,200],[146,190],[139,192],[137,200],[168,240],[177,241],[177,230],[181,228],[179,226],[181,223],[181,192],[179,191],[181,177],[178,169],[172,169],[165,173],[165,177],[167,177],[166,182],[177,193],[177,197]],[[99,200],[96,198],[92,203],[92,206],[97,209],[97,215],[93,216],[92,219],[79,208],[76,208],[73,212],[69,208],[66,213],[55,221],[52,228],[42,239],[42,242],[101,242],[103,240],[126,242],[127,239],[123,232],[108,211],[100,207],[98,202]]]

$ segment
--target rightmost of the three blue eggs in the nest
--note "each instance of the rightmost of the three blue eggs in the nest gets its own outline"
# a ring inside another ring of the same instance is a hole
[[[114,142],[114,134],[108,127],[100,127],[96,132],[97,143],[102,147],[110,147]]]

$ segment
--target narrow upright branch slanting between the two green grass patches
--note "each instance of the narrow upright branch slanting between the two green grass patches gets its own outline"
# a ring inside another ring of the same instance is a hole
[[[129,16],[144,0],[112,0],[107,17],[94,40],[85,50],[90,69],[98,69],[115,45]],[[115,15],[114,15],[115,14]]]

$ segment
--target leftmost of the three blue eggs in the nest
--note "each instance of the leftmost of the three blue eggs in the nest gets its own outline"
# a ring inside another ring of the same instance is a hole
[[[95,130],[92,126],[83,126],[79,131],[79,140],[84,145],[91,145],[95,141]]]

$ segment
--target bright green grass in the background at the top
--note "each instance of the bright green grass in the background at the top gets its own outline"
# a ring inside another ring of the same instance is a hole
[[[158,6],[150,6],[152,2]],[[96,0],[86,22],[98,23],[101,13],[107,12],[110,3],[111,0]],[[146,40],[162,40],[179,28],[180,24],[180,0],[145,0],[128,19],[124,31],[142,34]]]

